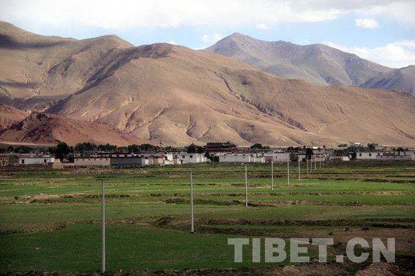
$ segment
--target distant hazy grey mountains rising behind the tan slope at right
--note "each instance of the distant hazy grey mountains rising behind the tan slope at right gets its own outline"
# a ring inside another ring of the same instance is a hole
[[[415,90],[414,69],[394,70],[323,44],[265,42],[234,33],[203,51],[234,57],[261,71],[312,84],[346,84],[408,93]]]

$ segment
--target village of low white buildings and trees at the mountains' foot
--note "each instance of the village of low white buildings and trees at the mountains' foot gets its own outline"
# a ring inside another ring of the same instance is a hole
[[[415,160],[415,149],[362,147],[358,143],[339,145],[336,148],[288,147],[272,149],[255,144],[237,147],[232,142],[208,142],[204,147],[190,145],[183,149],[131,151],[89,150],[59,158],[50,152],[0,154],[0,167],[7,169],[59,169],[64,167],[134,167],[185,165],[197,163],[271,163],[271,162],[315,162],[350,160]]]

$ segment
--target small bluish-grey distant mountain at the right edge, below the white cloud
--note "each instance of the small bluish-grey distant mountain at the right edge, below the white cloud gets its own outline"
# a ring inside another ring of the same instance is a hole
[[[362,87],[398,89],[415,94],[415,66],[410,65],[390,72],[380,73],[362,84]]]

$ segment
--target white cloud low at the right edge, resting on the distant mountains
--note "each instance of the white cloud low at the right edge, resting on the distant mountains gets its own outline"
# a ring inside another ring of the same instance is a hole
[[[415,40],[400,40],[380,47],[346,47],[331,42],[325,42],[333,48],[344,52],[354,53],[371,62],[376,62],[391,68],[415,65]]]

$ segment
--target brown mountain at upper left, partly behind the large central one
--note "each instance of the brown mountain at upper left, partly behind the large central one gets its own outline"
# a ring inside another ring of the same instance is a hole
[[[113,35],[45,37],[0,21],[0,101],[42,110],[82,89],[101,62],[131,46]]]

